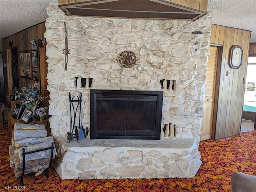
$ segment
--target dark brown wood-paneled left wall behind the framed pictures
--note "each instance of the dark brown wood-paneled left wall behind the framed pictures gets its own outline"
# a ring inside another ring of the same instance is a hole
[[[12,36],[9,36],[9,37],[3,39],[3,61],[4,61],[4,63],[7,63],[6,53],[7,53],[8,49],[17,47],[17,49],[18,49],[18,58],[19,58],[19,52],[20,51],[33,49],[33,46],[30,43],[30,41],[35,40],[35,42],[37,44],[38,57],[39,57],[38,58],[39,67],[33,67],[33,71],[35,71],[35,70],[38,71],[39,81],[33,81],[33,79],[19,78],[20,88],[21,87],[28,87],[28,83],[30,83],[30,82],[40,83],[40,79],[44,79],[44,78],[46,79],[46,76],[45,77],[40,76],[40,70],[42,70],[40,66],[41,65],[42,66],[48,65],[48,63],[46,63],[46,59],[44,58],[45,53],[44,53],[43,49],[39,49],[39,46],[38,46],[38,40],[41,39],[41,38],[44,39],[44,32],[45,31],[46,31],[45,22],[43,22],[43,23],[32,26],[28,29],[25,29],[21,32],[18,32],[16,34],[12,35]],[[12,42],[12,47],[10,47],[9,42]],[[40,57],[42,57],[44,59],[40,59]],[[19,59],[18,59],[18,66],[20,66]],[[47,69],[47,67],[46,67],[46,69]],[[9,95],[9,89],[8,89],[7,83],[8,82],[5,81],[6,97],[7,97],[7,95]],[[42,95],[44,95],[42,90],[44,90],[44,89],[41,89]]]

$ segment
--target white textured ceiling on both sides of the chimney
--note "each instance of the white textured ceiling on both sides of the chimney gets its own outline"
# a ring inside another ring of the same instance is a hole
[[[58,0],[0,0],[0,40],[44,22],[46,7]],[[256,0],[208,0],[213,24],[252,31],[256,43]]]

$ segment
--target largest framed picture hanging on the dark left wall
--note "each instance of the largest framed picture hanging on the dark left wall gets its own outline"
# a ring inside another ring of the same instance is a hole
[[[20,51],[20,77],[32,79],[31,51]]]

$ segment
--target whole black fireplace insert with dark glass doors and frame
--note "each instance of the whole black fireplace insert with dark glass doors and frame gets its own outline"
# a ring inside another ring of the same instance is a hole
[[[90,139],[160,140],[163,91],[90,90]]]

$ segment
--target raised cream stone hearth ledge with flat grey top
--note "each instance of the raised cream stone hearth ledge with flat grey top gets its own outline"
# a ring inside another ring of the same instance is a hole
[[[62,179],[194,177],[201,165],[196,139],[55,140]]]

